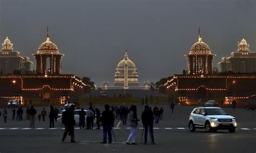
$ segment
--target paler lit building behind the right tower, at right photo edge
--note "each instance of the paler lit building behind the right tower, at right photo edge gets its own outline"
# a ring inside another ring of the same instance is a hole
[[[220,72],[256,72],[256,52],[250,52],[249,44],[242,39],[238,43],[238,51],[232,52],[230,57],[222,58],[218,63],[218,68]]]

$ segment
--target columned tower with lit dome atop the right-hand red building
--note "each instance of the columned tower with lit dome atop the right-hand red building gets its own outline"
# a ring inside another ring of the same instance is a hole
[[[186,55],[188,74],[212,74],[214,56],[210,47],[203,42],[199,33],[198,42],[192,45],[190,53]]]

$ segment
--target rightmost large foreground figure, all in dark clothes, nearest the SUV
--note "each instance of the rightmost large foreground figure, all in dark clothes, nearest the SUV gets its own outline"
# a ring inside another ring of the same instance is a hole
[[[145,106],[144,108],[145,108],[145,110],[142,112],[142,123],[143,123],[143,127],[145,129],[144,144],[147,144],[148,129],[150,129],[151,144],[154,144],[154,133],[153,133],[154,115],[153,115],[153,112],[149,109],[149,106]]]

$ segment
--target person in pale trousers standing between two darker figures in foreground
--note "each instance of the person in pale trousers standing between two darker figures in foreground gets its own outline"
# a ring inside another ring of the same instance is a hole
[[[128,125],[130,127],[130,135],[127,138],[126,144],[137,144],[135,143],[136,137],[136,128],[138,127],[138,119],[137,119],[137,108],[135,105],[132,105],[130,108],[131,112],[129,113],[129,121]],[[132,140],[132,142],[130,142]]]

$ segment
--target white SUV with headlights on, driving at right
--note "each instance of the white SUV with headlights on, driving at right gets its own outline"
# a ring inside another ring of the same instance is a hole
[[[206,132],[228,129],[230,133],[234,133],[237,122],[235,117],[228,115],[222,108],[199,107],[190,113],[188,128],[191,132],[205,128]]]

